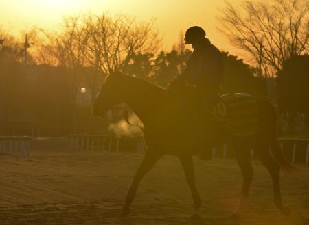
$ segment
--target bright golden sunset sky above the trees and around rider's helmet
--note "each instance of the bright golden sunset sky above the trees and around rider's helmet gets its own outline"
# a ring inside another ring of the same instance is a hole
[[[0,26],[15,33],[32,26],[56,29],[65,15],[108,10],[136,16],[139,21],[157,18],[166,50],[178,40],[179,31],[199,25],[220,50],[237,53],[217,30],[218,8],[224,5],[224,0],[0,0]]]

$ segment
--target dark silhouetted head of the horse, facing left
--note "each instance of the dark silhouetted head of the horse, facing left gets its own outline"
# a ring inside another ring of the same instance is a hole
[[[93,105],[94,116],[105,116],[108,109],[115,109],[124,102],[125,76],[120,72],[111,72],[102,85],[100,95]]]

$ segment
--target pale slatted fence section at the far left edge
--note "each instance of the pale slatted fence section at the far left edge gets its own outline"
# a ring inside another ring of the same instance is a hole
[[[32,137],[0,136],[0,153],[28,157]]]

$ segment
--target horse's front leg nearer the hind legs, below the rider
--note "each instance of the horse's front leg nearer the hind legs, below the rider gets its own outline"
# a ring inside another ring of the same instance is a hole
[[[187,184],[190,187],[193,202],[194,202],[194,214],[192,215],[192,218],[199,218],[201,217],[200,208],[201,208],[202,200],[195,186],[192,155],[181,156],[179,157],[179,159],[181,160],[183,170],[185,171],[185,178],[187,178]]]

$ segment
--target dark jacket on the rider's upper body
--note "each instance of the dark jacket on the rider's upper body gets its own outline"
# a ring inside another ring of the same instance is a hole
[[[205,38],[203,44],[194,49],[183,75],[197,86],[219,86],[223,80],[223,59],[219,49]]]

